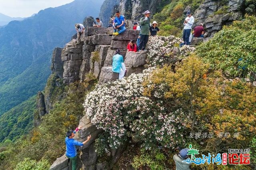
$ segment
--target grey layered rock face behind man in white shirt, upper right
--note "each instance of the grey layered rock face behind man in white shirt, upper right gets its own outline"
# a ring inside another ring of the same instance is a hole
[[[243,4],[244,0],[229,0],[227,4],[221,4],[218,0],[205,0],[193,14],[194,25],[204,23],[207,29],[204,36],[207,41],[214,33],[220,31],[223,25],[229,25],[232,21],[242,18]]]

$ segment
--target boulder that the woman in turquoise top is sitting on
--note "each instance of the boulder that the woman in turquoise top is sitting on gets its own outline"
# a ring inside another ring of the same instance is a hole
[[[98,84],[112,82],[118,79],[119,73],[113,72],[112,67],[102,67]]]

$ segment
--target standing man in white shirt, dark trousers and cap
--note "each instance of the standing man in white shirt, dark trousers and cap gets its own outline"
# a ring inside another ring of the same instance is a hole
[[[194,24],[194,17],[191,15],[191,12],[187,12],[187,17],[183,23],[184,29],[183,29],[183,41],[185,45],[190,45],[189,42],[189,36],[191,33],[192,25]]]

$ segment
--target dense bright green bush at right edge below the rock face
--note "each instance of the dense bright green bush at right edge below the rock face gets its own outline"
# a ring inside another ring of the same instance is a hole
[[[254,16],[246,16],[244,21],[234,21],[225,26],[208,42],[197,48],[197,54],[221,69],[227,77],[246,78],[256,72],[256,26]]]

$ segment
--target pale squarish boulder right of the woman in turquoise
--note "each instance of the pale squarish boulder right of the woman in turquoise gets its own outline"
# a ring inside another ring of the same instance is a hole
[[[146,64],[147,51],[132,52],[128,51],[124,60],[124,64],[127,67],[138,67]]]

